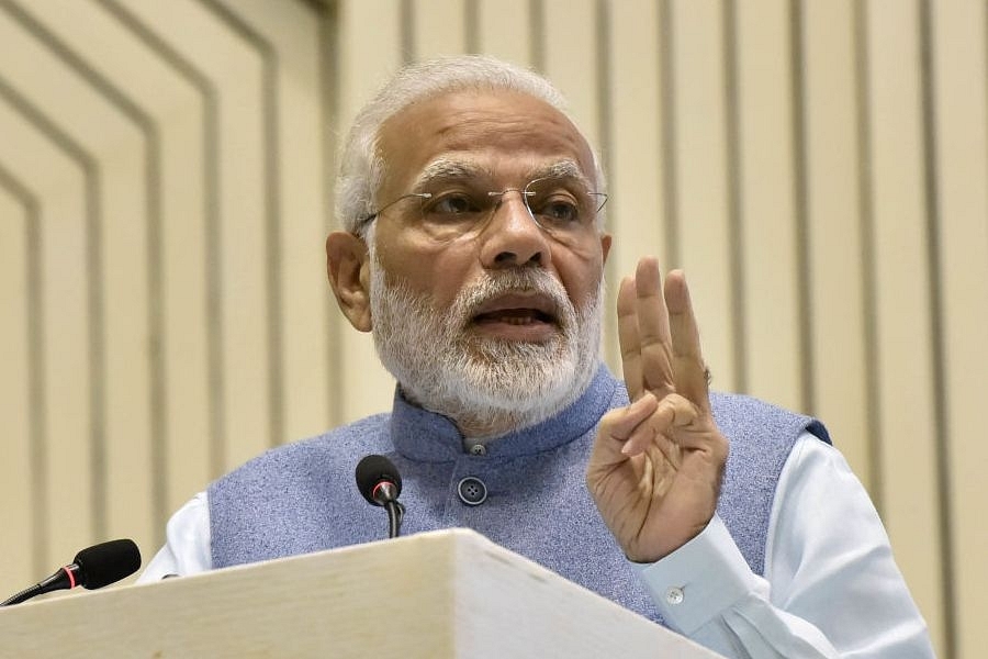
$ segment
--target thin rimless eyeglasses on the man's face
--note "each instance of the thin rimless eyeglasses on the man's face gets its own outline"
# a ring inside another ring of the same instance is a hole
[[[449,239],[483,228],[505,201],[505,194],[517,192],[531,220],[550,236],[572,237],[593,228],[595,219],[607,202],[603,192],[592,192],[575,177],[543,177],[524,188],[490,191],[473,179],[440,182],[435,190],[409,192],[382,205],[363,217],[358,233],[384,211],[406,200],[417,200],[422,228],[430,236]]]

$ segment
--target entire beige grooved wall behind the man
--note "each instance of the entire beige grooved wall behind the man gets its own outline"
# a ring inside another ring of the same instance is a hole
[[[611,300],[644,253],[685,267],[715,384],[828,423],[941,656],[978,656],[986,25],[981,0],[0,0],[0,592],[109,537],[149,557],[210,478],[386,409],[324,283],[337,133],[403,62],[483,52],[599,145]]]

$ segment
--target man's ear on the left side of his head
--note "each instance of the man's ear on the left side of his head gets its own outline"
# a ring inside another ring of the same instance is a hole
[[[360,332],[371,331],[370,254],[362,238],[337,231],[326,238],[326,273],[340,311]]]

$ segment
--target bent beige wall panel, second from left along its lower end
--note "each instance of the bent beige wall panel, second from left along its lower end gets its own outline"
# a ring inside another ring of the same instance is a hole
[[[0,41],[9,35],[7,27],[0,14]],[[4,70],[0,68],[0,78]],[[43,328],[44,370],[37,375],[43,384],[40,395],[45,402],[44,412],[48,413],[41,438],[44,462],[33,472],[41,485],[36,494],[43,500],[36,501],[38,506],[31,511],[43,545],[38,563],[47,565],[72,556],[80,541],[92,537],[85,226],[90,187],[83,164],[32,124],[23,108],[11,107],[10,101],[5,85],[0,85],[0,127],[4,129],[0,159],[41,200],[43,289],[35,313],[52,321]],[[72,459],[66,460],[67,455]],[[15,499],[10,503],[21,502]],[[12,592],[18,585],[11,583]]]

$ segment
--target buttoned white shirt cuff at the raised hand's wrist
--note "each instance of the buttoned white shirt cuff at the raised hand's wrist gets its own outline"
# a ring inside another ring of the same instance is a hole
[[[718,515],[662,560],[636,563],[636,569],[665,623],[686,636],[761,590],[762,583]]]

